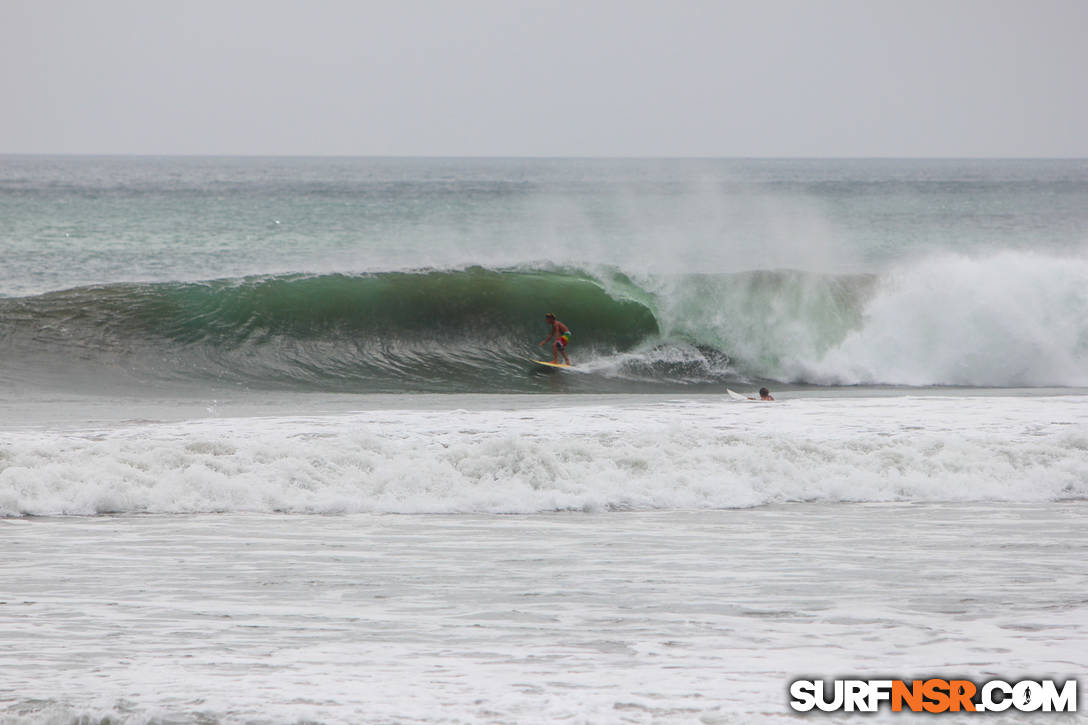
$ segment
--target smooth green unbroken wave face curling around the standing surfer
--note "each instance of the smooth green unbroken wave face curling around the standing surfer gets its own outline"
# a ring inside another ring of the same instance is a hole
[[[81,287],[0,310],[24,360],[79,360],[77,377],[360,392],[546,388],[527,359],[551,356],[537,346],[548,311],[583,360],[659,332],[648,307],[588,274],[483,268]]]

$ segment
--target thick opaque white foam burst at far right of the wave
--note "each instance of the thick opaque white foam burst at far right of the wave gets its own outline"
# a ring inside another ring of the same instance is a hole
[[[787,377],[905,385],[1088,384],[1088,260],[936,255],[882,277],[864,323]]]

